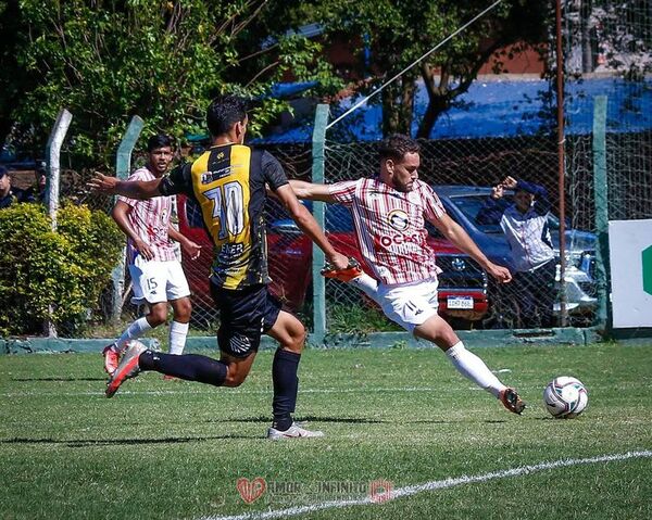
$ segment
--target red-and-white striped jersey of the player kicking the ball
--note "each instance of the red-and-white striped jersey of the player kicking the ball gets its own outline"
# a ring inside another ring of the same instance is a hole
[[[362,257],[375,278],[386,284],[437,278],[425,220],[439,219],[446,210],[427,183],[416,180],[403,193],[378,178],[364,178],[328,190],[351,210]]]

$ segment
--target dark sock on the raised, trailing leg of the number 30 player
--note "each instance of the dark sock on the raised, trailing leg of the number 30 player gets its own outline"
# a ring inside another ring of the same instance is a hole
[[[155,370],[156,372],[199,381],[200,383],[222,386],[226,379],[226,365],[217,359],[197,354],[174,356],[161,352],[145,351],[138,358],[141,370]]]

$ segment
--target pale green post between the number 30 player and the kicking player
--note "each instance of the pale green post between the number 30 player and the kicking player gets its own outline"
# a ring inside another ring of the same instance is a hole
[[[326,143],[326,124],[328,123],[328,105],[318,104],[315,112],[315,127],[313,129],[312,143],[312,181],[324,182],[325,169],[325,143]],[[313,215],[322,229],[324,229],[325,205],[324,202],[313,202]],[[313,264],[313,333],[312,337],[316,344],[324,342],[326,335],[326,281],[321,274],[324,266],[324,252],[314,243],[312,245]]]

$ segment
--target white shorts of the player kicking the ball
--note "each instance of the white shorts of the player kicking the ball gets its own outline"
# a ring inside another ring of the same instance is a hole
[[[421,280],[398,286],[378,286],[377,303],[385,315],[405,330],[414,328],[437,315],[439,300],[435,279]]]

